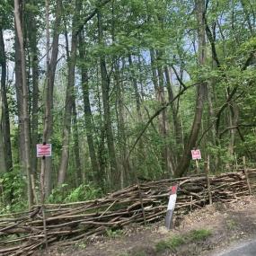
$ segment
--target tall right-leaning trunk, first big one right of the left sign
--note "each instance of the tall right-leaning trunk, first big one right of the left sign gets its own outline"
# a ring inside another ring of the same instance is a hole
[[[76,34],[76,23],[81,7],[80,0],[75,1],[75,13],[72,24],[72,40],[71,40],[71,52],[68,59],[68,78],[66,86],[66,103],[64,112],[63,122],[63,140],[62,140],[62,151],[60,158],[60,166],[58,170],[57,184],[60,186],[66,180],[66,172],[68,167],[69,158],[69,140],[70,140],[70,128],[71,128],[71,116],[72,116],[72,98],[74,97],[74,86],[75,86],[75,60],[77,50],[77,34]]]

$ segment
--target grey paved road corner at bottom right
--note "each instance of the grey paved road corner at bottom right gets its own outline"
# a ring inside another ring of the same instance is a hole
[[[217,254],[216,256],[256,256],[256,240],[242,243],[231,250]]]

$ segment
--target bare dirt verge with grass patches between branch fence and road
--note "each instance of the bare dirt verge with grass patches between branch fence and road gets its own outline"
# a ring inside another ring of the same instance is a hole
[[[207,237],[187,240],[169,246],[166,241],[189,237],[193,231],[208,230]],[[110,231],[90,243],[79,242],[67,248],[52,247],[34,256],[214,256],[228,246],[256,237],[256,198],[246,197],[234,203],[216,203],[187,216],[176,217],[174,229],[167,231],[162,223],[129,225],[121,231]],[[164,242],[164,243],[163,243]],[[163,244],[159,250],[159,244]]]

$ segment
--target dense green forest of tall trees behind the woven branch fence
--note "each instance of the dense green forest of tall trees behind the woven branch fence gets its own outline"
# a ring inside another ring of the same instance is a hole
[[[195,148],[255,163],[255,25],[255,0],[1,0],[0,213],[181,177]]]

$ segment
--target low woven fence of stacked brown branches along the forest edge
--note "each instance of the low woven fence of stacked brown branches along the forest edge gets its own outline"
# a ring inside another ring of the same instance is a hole
[[[209,181],[213,202],[249,195],[244,172],[209,176]],[[0,216],[0,255],[31,255],[47,244],[65,246],[88,241],[108,229],[163,220],[168,189],[173,183],[179,184],[175,216],[208,203],[207,178],[198,175],[145,182],[102,199],[45,205],[47,232],[44,231],[41,206],[35,206],[30,212]]]

